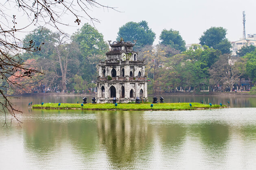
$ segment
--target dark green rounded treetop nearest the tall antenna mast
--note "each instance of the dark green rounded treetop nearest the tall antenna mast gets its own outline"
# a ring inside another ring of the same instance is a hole
[[[222,27],[211,27],[199,38],[200,44],[218,49],[222,54],[230,53],[231,43],[226,34],[227,30]]]

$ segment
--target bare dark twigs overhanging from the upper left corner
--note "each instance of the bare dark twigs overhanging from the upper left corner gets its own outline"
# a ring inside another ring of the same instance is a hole
[[[31,26],[46,25],[61,31],[59,26],[68,25],[65,19],[62,20],[64,15],[72,15],[74,22],[78,25],[81,19],[88,19],[94,25],[99,20],[94,18],[89,11],[100,7],[115,10],[115,8],[100,4],[96,0],[6,0],[0,2],[0,95],[3,98],[3,100],[0,100],[0,105],[3,108],[1,111],[5,115],[4,125],[7,125],[7,110],[9,110],[13,118],[21,123],[15,115],[15,112],[21,111],[14,108],[6,94],[11,84],[20,85],[15,81],[9,81],[8,78],[13,76],[17,70],[22,72],[20,76],[17,76],[17,79],[24,76],[30,77],[31,73],[39,72],[26,68],[20,54],[24,51],[38,51],[41,50],[41,47],[35,47],[33,40],[29,42],[28,47],[23,47],[20,45],[22,40],[17,36],[17,33],[24,32],[24,30],[29,29]],[[82,12],[81,15],[80,12]],[[27,21],[28,24],[20,26],[22,24],[18,24],[16,19],[17,13],[20,14],[19,18]]]

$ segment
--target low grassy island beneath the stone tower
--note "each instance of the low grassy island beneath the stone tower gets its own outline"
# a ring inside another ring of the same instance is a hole
[[[152,110],[200,110],[200,109],[209,109],[209,108],[224,108],[225,105],[213,104],[210,106],[209,104],[200,104],[200,103],[191,103],[192,107],[189,106],[190,103],[157,103],[153,104]],[[118,103],[116,110],[151,110],[150,103],[141,103],[141,104],[126,104],[126,103]],[[38,109],[82,109],[82,110],[115,110],[115,104],[106,103],[106,104],[69,104],[69,103],[61,103],[58,106],[58,103],[46,103],[46,104],[35,104],[32,106],[33,108]]]

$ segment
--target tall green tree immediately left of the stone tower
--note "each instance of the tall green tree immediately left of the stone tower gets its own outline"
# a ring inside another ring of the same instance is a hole
[[[104,41],[103,35],[86,23],[72,35],[72,40],[78,44],[80,49],[82,79],[88,82],[95,80],[96,65],[108,51],[108,44]]]

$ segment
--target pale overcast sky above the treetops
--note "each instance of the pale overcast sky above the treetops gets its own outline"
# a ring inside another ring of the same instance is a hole
[[[95,28],[103,34],[104,40],[115,40],[121,26],[129,21],[145,20],[156,33],[154,44],[159,43],[163,29],[178,30],[186,44],[199,43],[199,38],[208,28],[223,27],[227,29],[226,37],[230,41],[243,36],[243,15],[245,11],[245,33],[256,34],[255,9],[256,0],[97,0],[106,6],[117,7],[118,11],[107,8],[93,8],[87,11],[100,20]],[[71,15],[62,18],[70,24],[61,30],[73,34],[80,26],[74,23]]]

